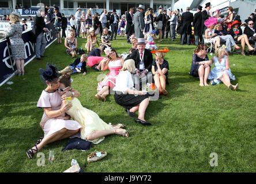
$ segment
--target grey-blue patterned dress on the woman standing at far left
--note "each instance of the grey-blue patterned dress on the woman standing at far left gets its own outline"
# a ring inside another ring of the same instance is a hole
[[[4,34],[5,38],[9,37],[13,60],[26,59],[25,44],[21,38],[22,25],[20,22],[10,25]]]

